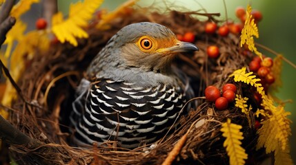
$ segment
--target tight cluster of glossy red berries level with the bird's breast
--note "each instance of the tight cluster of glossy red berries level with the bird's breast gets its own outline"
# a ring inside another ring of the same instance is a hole
[[[222,96],[220,90],[213,85],[206,87],[205,95],[206,100],[210,102],[215,102],[215,107],[218,110],[224,110],[227,109],[228,103],[235,100],[236,92],[237,87],[233,84],[228,83],[222,87]]]

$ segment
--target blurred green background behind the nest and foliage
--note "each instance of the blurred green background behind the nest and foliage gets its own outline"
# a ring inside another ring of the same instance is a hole
[[[168,0],[167,0],[168,1]],[[283,54],[288,60],[296,64],[296,1],[270,1],[270,0],[256,0],[256,1],[243,1],[243,0],[225,0],[228,12],[228,18],[239,21],[235,17],[235,8],[243,6],[250,2],[253,9],[259,10],[263,14],[263,20],[259,23],[259,39],[258,43],[266,45],[275,52]],[[73,2],[73,1],[72,1]],[[105,1],[101,8],[108,8],[109,10],[115,9],[124,0]],[[152,3],[161,3],[162,1],[139,1],[137,4],[147,7]],[[205,8],[207,12],[220,12],[221,19],[225,19],[224,2],[222,0],[170,0],[174,5],[184,6],[188,10],[200,10]],[[59,1],[59,10],[68,13],[68,6],[70,0]],[[266,54],[266,56],[275,57],[273,54]],[[283,86],[277,95],[282,100],[296,100],[296,69],[284,62],[282,69]],[[291,154],[293,162],[296,162],[296,104],[286,104],[286,111],[290,111],[290,119],[293,120],[292,131],[293,135],[290,138]]]

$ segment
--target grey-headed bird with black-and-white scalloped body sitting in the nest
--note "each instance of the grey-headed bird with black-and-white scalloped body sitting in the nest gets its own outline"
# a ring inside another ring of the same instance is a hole
[[[137,148],[159,140],[188,100],[172,60],[197,50],[158,23],[132,23],[119,30],[90,62],[76,89],[72,142],[115,141]]]

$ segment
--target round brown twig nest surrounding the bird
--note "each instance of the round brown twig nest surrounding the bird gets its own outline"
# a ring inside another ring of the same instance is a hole
[[[253,98],[252,91],[246,85],[235,83],[228,77],[235,69],[246,66],[252,54],[243,55],[244,48],[239,47],[239,36],[235,34],[227,37],[206,34],[206,21],[193,17],[198,14],[144,12],[135,9],[112,20],[108,30],[97,30],[94,20],[87,30],[90,37],[80,39],[77,47],[68,43],[52,43],[49,52],[36,52],[34,58],[26,62],[26,71],[19,82],[23,96],[32,101],[25,102],[19,98],[14,102],[9,118],[14,126],[33,141],[27,146],[11,145],[10,152],[14,160],[19,164],[161,164],[180,138],[188,133],[174,164],[228,164],[229,158],[223,146],[225,139],[220,129],[221,123],[231,118],[234,123],[243,126],[241,131],[245,138],[242,146],[249,155],[247,163],[257,164],[263,154],[262,151],[255,151],[255,120],[252,118],[249,126],[246,115],[234,103],[224,111],[217,111],[213,102],[199,97],[204,96],[203,89],[207,85],[221,88],[226,83],[234,83],[237,94]],[[215,19],[217,14],[201,15],[218,22]],[[199,106],[191,109],[188,115],[181,116],[181,126],[174,133],[155,142],[155,148],[151,148],[150,144],[127,150],[115,147],[112,142],[88,149],[70,146],[68,140],[71,133],[68,131],[67,116],[72,111],[75,87],[83,77],[83,72],[112,35],[125,25],[142,21],[160,23],[175,34],[195,34],[195,44],[200,51],[177,56],[174,65],[192,78]],[[219,58],[206,56],[209,45],[219,47]],[[250,104],[257,106],[255,100],[250,100]]]

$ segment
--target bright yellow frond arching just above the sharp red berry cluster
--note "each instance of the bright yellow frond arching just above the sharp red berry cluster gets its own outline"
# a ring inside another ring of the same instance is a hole
[[[264,94],[264,88],[262,87],[262,84],[257,83],[260,81],[260,79],[256,78],[256,76],[252,74],[253,72],[246,73],[246,67],[242,67],[241,69],[235,70],[235,72],[233,72],[233,74],[230,74],[229,77],[234,76],[233,79],[235,80],[235,82],[240,81],[246,84],[250,84],[253,87],[256,87],[259,94]]]

